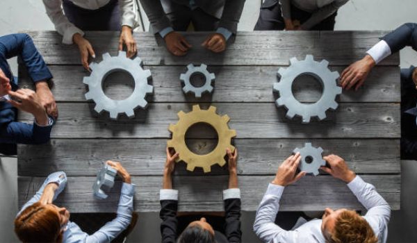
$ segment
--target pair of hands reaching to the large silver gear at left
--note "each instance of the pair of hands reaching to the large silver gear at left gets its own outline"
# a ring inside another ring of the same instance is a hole
[[[92,45],[79,33],[72,36],[72,41],[79,47],[83,67],[91,72],[90,65],[88,65],[88,57],[92,56],[92,58],[95,58],[95,51],[92,49]],[[122,33],[120,33],[119,38],[119,51],[122,51],[124,44],[127,48],[126,57],[131,58],[135,56],[138,49],[136,47],[136,41],[133,39],[132,28],[129,26],[122,26]]]

